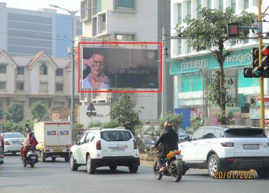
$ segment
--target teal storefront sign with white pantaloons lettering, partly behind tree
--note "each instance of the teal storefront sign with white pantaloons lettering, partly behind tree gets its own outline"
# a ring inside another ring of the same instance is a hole
[[[224,67],[249,65],[251,61],[250,52],[250,49],[232,51],[230,55],[225,58]],[[219,64],[211,54],[178,59],[170,63],[170,74],[194,72],[203,68],[217,69],[219,68]]]

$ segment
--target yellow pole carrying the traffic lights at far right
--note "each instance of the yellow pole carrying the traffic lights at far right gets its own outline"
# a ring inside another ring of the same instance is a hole
[[[258,48],[259,48],[259,66],[261,66],[261,48],[262,48],[262,25],[261,25],[261,3],[258,0]],[[261,30],[260,30],[261,29]],[[263,77],[259,77],[260,89],[260,126],[265,129],[265,116],[264,116],[264,86]]]

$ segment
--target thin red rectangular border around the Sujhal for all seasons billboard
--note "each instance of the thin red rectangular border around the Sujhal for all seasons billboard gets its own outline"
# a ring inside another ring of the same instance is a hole
[[[80,89],[80,45],[81,44],[159,44],[160,45],[160,89],[159,90],[81,90]],[[161,93],[163,91],[163,43],[161,41],[136,41],[136,42],[78,42],[78,92],[112,92],[112,93]]]

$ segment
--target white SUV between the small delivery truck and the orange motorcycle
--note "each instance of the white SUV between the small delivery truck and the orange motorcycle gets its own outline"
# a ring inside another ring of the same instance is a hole
[[[140,165],[137,141],[124,128],[90,128],[70,149],[71,170],[80,165],[86,165],[90,174],[101,166],[109,166],[111,170],[128,166],[130,172],[137,172]]]

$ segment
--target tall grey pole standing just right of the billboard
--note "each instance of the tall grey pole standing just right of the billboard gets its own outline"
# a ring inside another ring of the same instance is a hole
[[[167,35],[165,27],[163,27],[163,91],[162,91],[162,114],[163,116],[165,113],[167,113],[167,92],[166,92],[166,41],[167,41]]]

